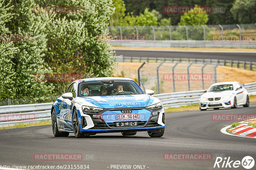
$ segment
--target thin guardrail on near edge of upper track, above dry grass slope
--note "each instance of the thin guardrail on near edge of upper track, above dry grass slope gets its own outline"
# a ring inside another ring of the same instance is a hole
[[[220,60],[220,59],[195,59],[195,58],[169,58],[169,57],[126,57],[120,56],[115,59],[119,62],[195,62],[211,63],[221,66],[243,68],[247,70],[256,70],[256,62],[238,61],[238,60]]]

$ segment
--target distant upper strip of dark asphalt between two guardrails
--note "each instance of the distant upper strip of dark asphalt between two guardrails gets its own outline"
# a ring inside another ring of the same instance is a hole
[[[221,60],[239,60],[256,61],[256,53],[241,52],[182,52],[182,51],[148,51],[148,50],[119,50],[115,49],[116,55],[126,57],[159,57],[159,58],[196,58],[196,59],[221,59]]]

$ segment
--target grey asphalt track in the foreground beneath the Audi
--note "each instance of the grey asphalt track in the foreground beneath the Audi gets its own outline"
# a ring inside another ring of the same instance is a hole
[[[147,132],[130,137],[106,133],[89,138],[75,138],[73,134],[57,138],[51,125],[1,129],[0,165],[89,165],[90,170],[113,169],[111,165],[132,165],[131,169],[133,165],[145,165],[148,170],[219,169],[213,168],[216,155],[240,161],[251,156],[256,160],[256,146],[254,138],[221,133],[221,128],[233,122],[212,121],[212,114],[255,114],[255,110],[256,104],[251,104],[248,108],[167,113],[162,138],[150,138]],[[36,161],[36,153],[81,153],[83,160]],[[164,153],[211,153],[212,160],[164,160]],[[236,169],[244,168],[240,165]]]

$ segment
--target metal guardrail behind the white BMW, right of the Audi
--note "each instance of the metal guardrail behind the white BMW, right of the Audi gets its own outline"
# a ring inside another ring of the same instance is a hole
[[[241,85],[247,89],[249,95],[256,95],[256,82]],[[169,107],[180,107],[198,103],[200,96],[204,94],[205,90],[172,92],[153,96],[159,98],[164,108],[168,109]]]

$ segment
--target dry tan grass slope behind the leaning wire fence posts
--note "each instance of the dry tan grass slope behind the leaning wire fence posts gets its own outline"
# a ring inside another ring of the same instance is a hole
[[[124,76],[124,77],[130,77],[132,79],[138,79],[138,73],[137,70],[141,66],[142,63],[138,62],[119,62],[118,69],[116,73],[114,73],[114,76]],[[156,79],[154,79],[154,76],[156,76],[156,67],[160,63],[147,63],[142,68],[141,71],[143,71],[143,77],[150,80],[149,82],[145,82],[145,88],[146,89],[153,89],[156,90]],[[166,80],[164,79],[165,74],[172,74],[172,67],[175,63],[164,63],[159,68],[159,80],[160,80],[160,93],[168,93],[173,92],[173,82],[172,80]],[[174,70],[175,74],[187,74],[187,67],[189,63],[179,63]],[[193,64],[190,69],[190,74],[201,74],[201,68],[203,64]],[[207,67],[204,68],[204,73],[207,74],[213,74],[214,65],[207,65]],[[227,67],[227,66],[219,66],[217,67],[217,82],[223,82],[223,81],[237,81],[240,84],[244,83],[250,83],[250,82],[256,82],[256,72],[245,70],[241,68],[234,68],[234,67]],[[152,81],[151,81],[151,78]],[[209,80],[204,81],[204,89],[208,89],[210,85],[212,85],[213,80],[212,78]],[[175,89],[176,92],[178,91],[188,91],[188,81],[182,80],[182,81],[175,81]],[[199,90],[203,89],[202,81],[190,81],[190,90]]]

